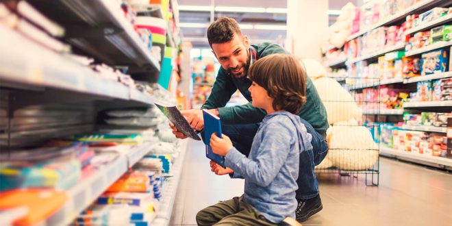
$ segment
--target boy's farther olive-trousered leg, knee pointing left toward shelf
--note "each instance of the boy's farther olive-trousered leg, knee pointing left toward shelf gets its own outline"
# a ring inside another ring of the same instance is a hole
[[[198,225],[214,225],[226,216],[239,212],[239,197],[221,201],[215,205],[210,205],[196,214]]]

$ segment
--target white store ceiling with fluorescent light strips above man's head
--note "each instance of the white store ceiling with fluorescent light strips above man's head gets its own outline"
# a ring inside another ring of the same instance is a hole
[[[313,1],[313,0],[305,0]],[[351,0],[357,5],[362,0]],[[348,0],[329,0],[329,10],[340,10]],[[287,0],[177,0],[181,6],[197,5],[214,7],[249,7],[249,8],[286,8]],[[324,12],[327,13],[327,12]],[[179,9],[179,22],[181,23],[181,32],[184,40],[192,42],[193,47],[208,47],[206,31],[210,23],[210,11],[188,11]],[[214,12],[214,19],[221,16],[235,18],[242,27],[242,33],[249,36],[251,42],[264,42],[284,40],[286,38],[285,29],[255,29],[253,25],[286,25],[286,13],[257,13],[257,12]],[[336,15],[329,16],[329,24],[336,21]],[[190,23],[188,25],[187,23]],[[186,25],[186,26],[182,26]],[[188,26],[188,27],[187,27]],[[194,27],[196,26],[196,27]]]

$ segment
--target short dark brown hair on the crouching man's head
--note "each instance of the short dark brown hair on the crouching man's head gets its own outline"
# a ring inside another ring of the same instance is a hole
[[[234,18],[221,17],[212,23],[208,28],[209,45],[229,42],[234,35],[242,37],[242,31]]]

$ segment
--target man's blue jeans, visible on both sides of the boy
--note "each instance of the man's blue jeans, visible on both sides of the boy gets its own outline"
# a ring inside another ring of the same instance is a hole
[[[311,144],[313,149],[303,151],[300,154],[300,168],[297,179],[298,190],[297,199],[310,199],[316,197],[318,194],[318,182],[314,173],[314,166],[320,164],[328,152],[327,141],[321,134],[301,118],[307,129],[307,132],[312,135]],[[232,143],[238,151],[244,155],[249,155],[251,151],[251,144],[253,138],[258,131],[260,124],[247,125],[222,125],[223,134],[231,138]]]

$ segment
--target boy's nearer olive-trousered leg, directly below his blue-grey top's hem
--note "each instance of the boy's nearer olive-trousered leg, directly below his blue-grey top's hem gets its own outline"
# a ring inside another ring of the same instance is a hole
[[[268,221],[262,214],[257,212],[253,206],[245,203],[243,197],[239,198],[239,212],[226,216],[215,224],[216,226],[229,225],[278,225]]]

